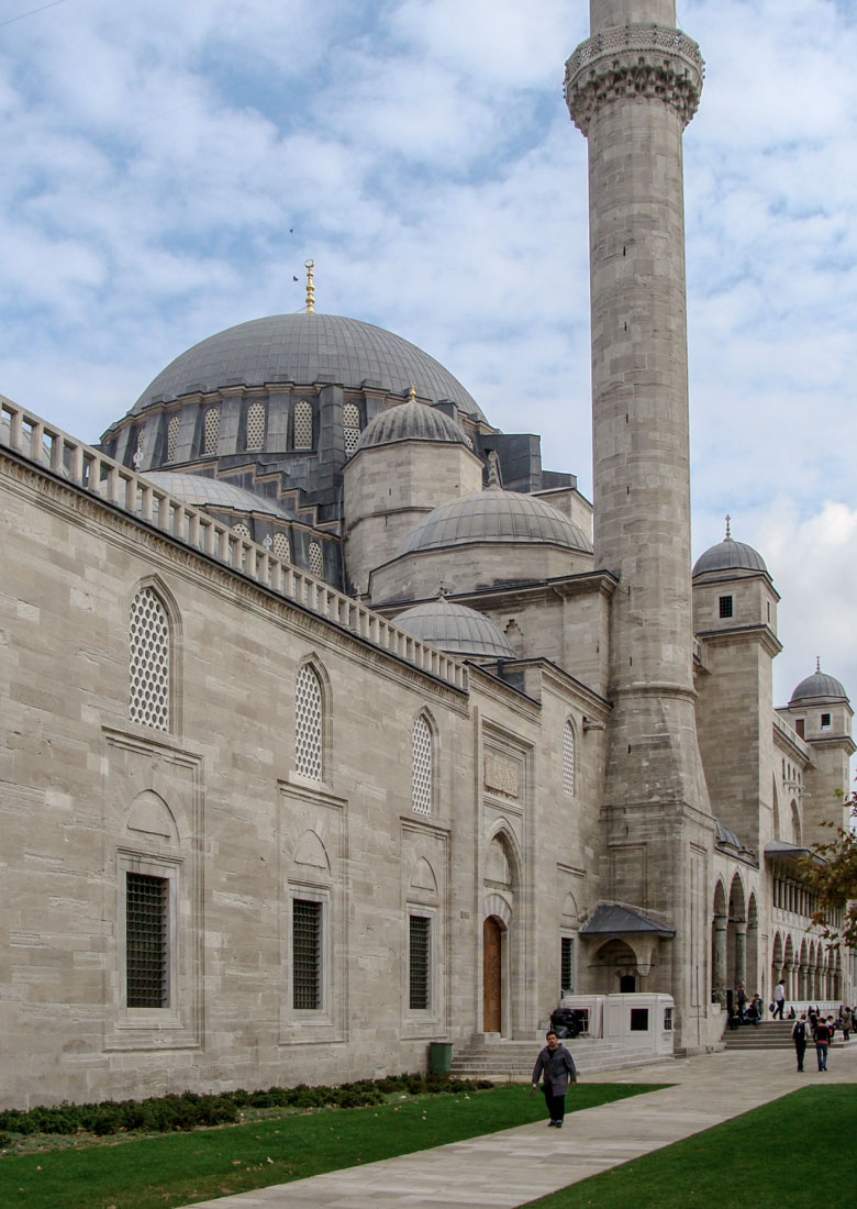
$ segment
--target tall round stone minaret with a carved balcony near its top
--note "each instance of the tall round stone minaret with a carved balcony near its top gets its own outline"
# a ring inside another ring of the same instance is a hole
[[[712,821],[694,717],[682,132],[703,65],[674,0],[590,0],[590,18],[566,98],[589,141],[595,556],[619,579],[604,893],[676,929],[637,985],[676,996],[690,1046],[706,1040]]]

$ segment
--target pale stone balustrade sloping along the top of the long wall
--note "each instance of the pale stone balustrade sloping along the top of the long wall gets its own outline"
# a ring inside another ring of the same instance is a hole
[[[170,538],[247,575],[262,588],[300,604],[419,671],[467,689],[467,669],[429,647],[372,609],[336,591],[324,580],[299,571],[228,525],[147,482],[144,475],[105,457],[62,429],[0,395],[0,446],[7,446],[40,469],[154,526]]]

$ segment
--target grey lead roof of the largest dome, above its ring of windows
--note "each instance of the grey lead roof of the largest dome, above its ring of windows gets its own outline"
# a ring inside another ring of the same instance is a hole
[[[230,386],[331,382],[360,389],[367,381],[403,395],[413,384],[421,399],[451,399],[465,415],[485,420],[462,383],[416,345],[359,319],[306,312],[251,319],[193,345],[150,382],[132,413]]]

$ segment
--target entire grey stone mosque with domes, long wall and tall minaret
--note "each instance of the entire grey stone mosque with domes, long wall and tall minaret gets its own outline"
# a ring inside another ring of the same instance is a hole
[[[690,566],[700,50],[591,16],[592,503],[312,262],[95,445],[2,399],[4,1105],[413,1070],[571,991],[672,995],[687,1052],[741,982],[853,1002],[800,872],[847,693],[775,707],[763,555]]]

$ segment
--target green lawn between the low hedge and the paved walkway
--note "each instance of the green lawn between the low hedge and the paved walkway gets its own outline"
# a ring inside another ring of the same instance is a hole
[[[578,1087],[575,1111],[653,1091]],[[164,1209],[319,1175],[544,1118],[528,1086],[409,1097],[189,1134],[58,1149],[0,1159],[2,1209]],[[569,1122],[571,1124],[571,1122]],[[571,1130],[569,1130],[571,1132]]]

